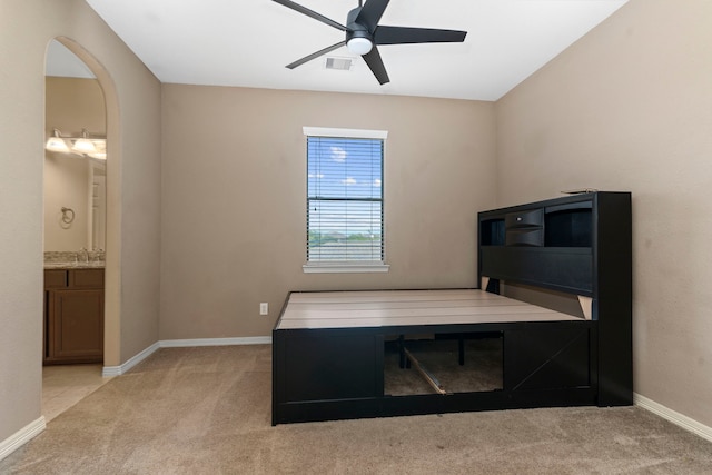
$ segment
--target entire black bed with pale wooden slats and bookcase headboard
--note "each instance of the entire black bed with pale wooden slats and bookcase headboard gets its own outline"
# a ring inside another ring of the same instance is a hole
[[[481,212],[483,289],[290,293],[273,330],[273,424],[632,404],[630,198]],[[503,283],[577,297],[585,317],[498,295]],[[487,384],[461,385],[483,368]],[[432,390],[400,390],[415,372]]]

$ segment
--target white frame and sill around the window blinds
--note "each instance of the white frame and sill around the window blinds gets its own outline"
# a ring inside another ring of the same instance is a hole
[[[307,138],[309,137],[334,137],[334,138],[346,138],[346,139],[376,139],[376,140],[383,140],[383,156],[382,156],[382,167],[383,167],[383,177],[382,177],[382,187],[383,187],[383,182],[385,182],[385,157],[386,157],[386,138],[388,137],[388,131],[386,130],[366,130],[366,129],[339,129],[339,128],[330,128],[330,127],[304,127],[303,128],[303,132],[304,136]],[[306,142],[305,141],[305,145]],[[308,151],[307,151],[307,162],[308,162]],[[306,197],[307,197],[307,206],[308,206],[308,197],[309,197],[309,192],[308,192],[308,171],[307,171],[308,167],[305,167],[305,174],[307,174],[307,176],[305,177],[306,180],[306,185],[307,185],[307,191],[306,191]],[[380,206],[382,206],[382,219],[383,219],[383,234],[382,234],[382,248],[383,248],[383,260],[338,260],[338,261],[309,261],[307,260],[306,264],[304,264],[303,270],[305,274],[312,274],[312,273],[334,273],[334,274],[342,274],[342,273],[387,273],[390,268],[390,266],[388,264],[386,264],[386,240],[385,240],[385,228],[386,228],[386,222],[385,222],[385,217],[386,217],[386,210],[385,210],[385,196],[384,196],[384,191],[382,188],[380,191]],[[308,209],[305,209],[305,211],[307,212],[307,219],[308,219]],[[305,259],[308,258],[308,234],[309,234],[309,229],[308,229],[308,224],[307,224],[307,231],[305,232],[305,235],[307,236],[307,243],[305,243]]]

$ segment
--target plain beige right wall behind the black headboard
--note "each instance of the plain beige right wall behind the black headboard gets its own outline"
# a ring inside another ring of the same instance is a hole
[[[633,194],[634,390],[712,426],[712,2],[631,0],[501,99],[498,205]]]

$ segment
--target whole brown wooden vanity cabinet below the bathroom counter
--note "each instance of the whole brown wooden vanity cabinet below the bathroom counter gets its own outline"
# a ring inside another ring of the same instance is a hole
[[[46,365],[103,362],[103,269],[44,270]]]

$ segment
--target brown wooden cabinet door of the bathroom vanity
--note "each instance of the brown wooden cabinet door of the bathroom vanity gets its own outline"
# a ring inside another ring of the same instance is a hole
[[[53,294],[53,359],[102,362],[103,290],[55,290]]]

